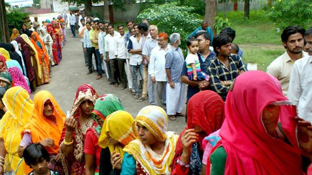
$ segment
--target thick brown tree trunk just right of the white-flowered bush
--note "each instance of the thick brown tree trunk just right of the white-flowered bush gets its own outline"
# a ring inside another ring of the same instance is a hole
[[[205,7],[205,20],[208,22],[209,27],[213,30],[213,34],[216,34],[214,25],[214,18],[216,17],[216,0],[206,0]]]

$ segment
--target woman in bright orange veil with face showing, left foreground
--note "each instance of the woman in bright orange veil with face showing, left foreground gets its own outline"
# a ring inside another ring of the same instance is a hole
[[[46,90],[39,91],[34,97],[34,110],[30,123],[21,133],[22,141],[18,155],[23,157],[26,146],[32,143],[42,144],[50,154],[49,169],[63,172],[60,162],[59,139],[66,116],[53,95]]]

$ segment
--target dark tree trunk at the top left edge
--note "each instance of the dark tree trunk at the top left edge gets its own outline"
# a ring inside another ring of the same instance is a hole
[[[4,0],[0,0],[0,30],[1,30],[1,39],[3,43],[9,42],[9,32],[6,19],[6,9]]]

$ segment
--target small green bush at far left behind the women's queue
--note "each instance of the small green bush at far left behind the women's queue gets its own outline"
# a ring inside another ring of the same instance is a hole
[[[17,30],[20,30],[22,28],[24,18],[26,18],[27,16],[28,13],[22,12],[22,10],[18,8],[14,8],[10,12],[6,13],[10,35],[12,34],[12,29],[16,28]]]

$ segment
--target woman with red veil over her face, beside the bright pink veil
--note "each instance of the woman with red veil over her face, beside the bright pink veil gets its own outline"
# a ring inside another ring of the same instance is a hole
[[[187,127],[181,132],[172,162],[171,175],[201,175],[205,136],[224,121],[224,102],[211,90],[196,93],[187,104]]]

